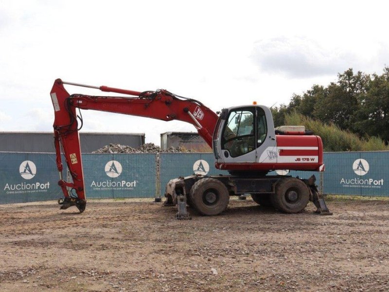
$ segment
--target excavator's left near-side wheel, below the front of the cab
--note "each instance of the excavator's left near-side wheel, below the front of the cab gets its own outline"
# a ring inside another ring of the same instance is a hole
[[[230,201],[227,187],[211,178],[197,181],[191,188],[190,196],[193,207],[205,216],[222,213]]]

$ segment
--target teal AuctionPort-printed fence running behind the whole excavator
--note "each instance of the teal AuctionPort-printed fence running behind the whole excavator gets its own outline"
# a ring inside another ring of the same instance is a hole
[[[0,162],[0,203],[62,197],[55,154],[0,152]],[[309,178],[315,174],[326,194],[389,196],[388,162],[389,151],[324,153],[322,175],[303,171],[288,175]],[[228,174],[214,167],[211,153],[84,154],[83,166],[87,198],[163,196],[172,178]],[[63,174],[66,177],[66,170]]]

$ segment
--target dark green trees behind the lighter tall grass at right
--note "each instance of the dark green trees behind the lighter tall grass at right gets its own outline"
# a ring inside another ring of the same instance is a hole
[[[380,137],[388,145],[389,67],[381,75],[354,73],[350,68],[327,87],[314,85],[303,94],[293,94],[288,105],[271,110],[276,127],[285,125],[285,116],[300,113],[365,140]]]

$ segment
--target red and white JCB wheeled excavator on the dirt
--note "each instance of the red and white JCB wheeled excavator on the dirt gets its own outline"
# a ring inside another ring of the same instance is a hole
[[[64,84],[95,88],[125,96],[69,94]],[[313,201],[317,213],[330,215],[315,176],[299,179],[268,176],[276,169],[324,171],[323,145],[320,137],[302,127],[274,128],[269,108],[247,105],[223,109],[216,114],[201,102],[166,90],[130,91],[95,87],[55,80],[51,91],[54,107],[54,143],[59,186],[64,199],[61,209],[86,207],[83,167],[78,130],[81,114],[76,109],[101,110],[136,115],[163,121],[180,120],[195,126],[199,135],[213,149],[215,167],[230,175],[192,175],[172,179],[166,186],[165,205],[178,207],[177,218],[189,218],[186,205],[202,215],[217,215],[229,203],[230,195],[250,194],[261,205],[272,205],[286,213],[298,213]],[[61,147],[72,182],[62,177]]]

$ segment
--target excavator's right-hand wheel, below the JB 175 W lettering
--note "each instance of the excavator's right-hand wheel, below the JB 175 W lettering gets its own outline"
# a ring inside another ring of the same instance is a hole
[[[284,178],[276,185],[276,193],[270,197],[273,206],[285,213],[301,212],[309,201],[309,189],[296,178]]]

